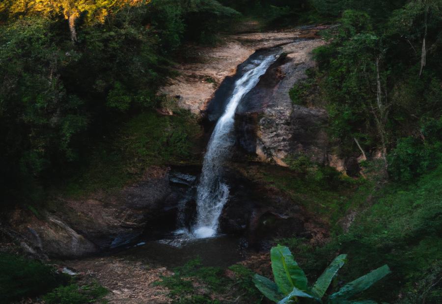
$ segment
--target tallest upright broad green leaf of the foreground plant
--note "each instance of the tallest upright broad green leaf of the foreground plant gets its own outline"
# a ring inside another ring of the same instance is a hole
[[[293,255],[287,247],[276,246],[270,251],[272,270],[275,282],[279,290],[287,295],[292,292],[293,287],[300,290],[307,289],[307,278],[304,271],[293,259]]]

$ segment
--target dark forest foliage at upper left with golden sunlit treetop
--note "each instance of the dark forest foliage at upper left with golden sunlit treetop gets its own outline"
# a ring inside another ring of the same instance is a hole
[[[139,111],[162,107],[157,90],[171,75],[168,66],[178,47],[185,41],[213,41],[226,20],[238,14],[216,0],[2,2],[0,182],[5,203],[35,202],[48,180],[89,158],[97,139]],[[170,153],[189,156],[179,129],[156,138],[168,129],[168,120],[146,122],[150,140],[158,144],[149,148],[150,163],[164,153],[163,159]],[[165,141],[177,150],[164,151]]]

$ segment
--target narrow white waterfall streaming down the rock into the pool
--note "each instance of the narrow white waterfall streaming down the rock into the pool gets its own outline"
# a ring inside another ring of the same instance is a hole
[[[229,197],[229,188],[221,179],[221,169],[235,143],[232,130],[236,108],[275,60],[276,55],[272,54],[262,61],[252,61],[248,67],[250,70],[235,82],[233,93],[215,126],[204,155],[196,190],[196,222],[191,231],[194,238],[212,237],[217,233],[222,207]]]

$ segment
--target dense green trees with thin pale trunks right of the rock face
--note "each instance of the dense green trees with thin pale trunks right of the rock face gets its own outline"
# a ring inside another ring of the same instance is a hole
[[[359,153],[358,143],[379,151],[395,180],[434,168],[441,161],[442,2],[311,3],[339,16],[338,26],[324,33],[330,43],[314,51],[318,68],[291,90],[292,100],[327,107],[342,155]]]

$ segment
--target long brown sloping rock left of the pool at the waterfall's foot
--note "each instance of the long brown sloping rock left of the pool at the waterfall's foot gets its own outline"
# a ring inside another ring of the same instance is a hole
[[[30,253],[82,256],[134,240],[149,222],[165,214],[165,201],[172,193],[168,169],[152,167],[141,180],[115,195],[58,199],[38,217],[16,210],[9,217],[9,227]],[[174,217],[171,214],[171,221]]]

